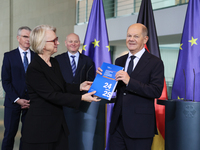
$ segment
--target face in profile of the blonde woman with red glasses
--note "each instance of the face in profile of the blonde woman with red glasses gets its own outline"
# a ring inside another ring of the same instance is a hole
[[[50,55],[53,55],[57,52],[58,45],[60,43],[57,40],[56,33],[52,30],[46,31],[46,44],[43,51],[48,52]]]

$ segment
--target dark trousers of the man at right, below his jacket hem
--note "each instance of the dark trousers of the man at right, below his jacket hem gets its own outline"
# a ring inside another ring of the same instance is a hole
[[[124,131],[122,119],[110,135],[110,150],[151,150],[152,138],[130,138]]]

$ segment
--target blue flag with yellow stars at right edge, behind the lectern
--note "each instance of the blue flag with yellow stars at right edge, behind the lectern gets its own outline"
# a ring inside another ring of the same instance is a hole
[[[172,99],[200,101],[200,0],[188,3]]]

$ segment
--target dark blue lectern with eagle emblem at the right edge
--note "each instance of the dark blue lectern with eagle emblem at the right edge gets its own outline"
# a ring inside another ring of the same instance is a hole
[[[200,102],[157,100],[165,105],[165,150],[200,150]]]

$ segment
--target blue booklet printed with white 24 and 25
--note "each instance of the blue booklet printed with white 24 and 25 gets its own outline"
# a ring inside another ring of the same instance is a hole
[[[95,96],[110,100],[117,85],[115,74],[123,67],[104,62],[101,69],[102,75],[97,74],[88,92],[96,91]]]

